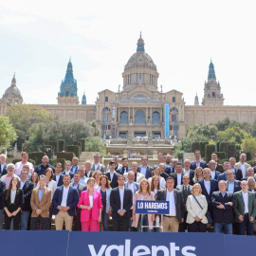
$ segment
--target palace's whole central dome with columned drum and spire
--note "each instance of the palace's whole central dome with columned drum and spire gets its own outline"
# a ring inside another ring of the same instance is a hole
[[[140,37],[137,40],[137,52],[129,59],[124,66],[123,91],[131,91],[137,86],[144,86],[151,91],[157,91],[156,65],[152,58],[145,52],[144,40]]]

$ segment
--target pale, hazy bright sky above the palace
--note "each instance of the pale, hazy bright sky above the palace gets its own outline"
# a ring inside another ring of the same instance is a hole
[[[204,96],[210,58],[225,105],[256,105],[255,1],[1,1],[0,97],[15,72],[25,103],[56,104],[71,57],[78,96],[122,88],[124,65],[145,51],[158,89]]]

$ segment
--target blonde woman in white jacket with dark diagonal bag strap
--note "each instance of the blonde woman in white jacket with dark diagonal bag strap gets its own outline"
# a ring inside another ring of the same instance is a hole
[[[206,232],[208,203],[205,195],[202,194],[200,184],[196,183],[192,186],[192,194],[188,196],[186,206],[188,210],[188,231]]]

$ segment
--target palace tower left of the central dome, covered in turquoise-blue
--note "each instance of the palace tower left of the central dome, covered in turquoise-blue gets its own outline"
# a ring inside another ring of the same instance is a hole
[[[67,64],[64,81],[61,83],[58,94],[58,104],[74,105],[79,104],[77,80],[74,79],[71,60]]]

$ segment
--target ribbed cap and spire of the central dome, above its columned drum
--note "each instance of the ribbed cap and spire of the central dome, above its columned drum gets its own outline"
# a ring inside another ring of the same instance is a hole
[[[129,59],[128,63],[124,66],[124,71],[137,68],[152,69],[156,71],[156,65],[152,58],[145,53],[144,40],[140,38],[137,40],[137,52]]]

